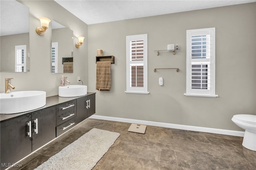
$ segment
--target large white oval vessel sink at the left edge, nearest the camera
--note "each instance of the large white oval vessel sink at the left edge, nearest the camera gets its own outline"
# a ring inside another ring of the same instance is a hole
[[[12,114],[38,109],[46,105],[46,92],[20,91],[0,93],[0,113]]]

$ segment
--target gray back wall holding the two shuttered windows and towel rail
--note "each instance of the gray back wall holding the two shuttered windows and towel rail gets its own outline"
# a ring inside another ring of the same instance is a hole
[[[231,118],[256,114],[256,3],[88,25],[88,90],[96,94],[96,115],[242,130]],[[187,97],[186,30],[216,27],[216,94]],[[148,34],[148,91],[126,94],[126,35]],[[154,50],[178,44],[176,55]],[[95,90],[96,50],[114,55],[112,87]],[[154,68],[180,68],[159,70]],[[164,86],[158,78],[164,78]]]

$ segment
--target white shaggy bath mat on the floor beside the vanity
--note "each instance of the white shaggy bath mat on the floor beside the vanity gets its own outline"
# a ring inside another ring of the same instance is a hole
[[[116,132],[91,129],[36,170],[91,170],[119,136]]]

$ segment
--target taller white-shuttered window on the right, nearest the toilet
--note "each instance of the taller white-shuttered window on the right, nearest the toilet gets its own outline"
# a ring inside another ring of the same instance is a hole
[[[215,94],[215,28],[187,30],[185,96]]]

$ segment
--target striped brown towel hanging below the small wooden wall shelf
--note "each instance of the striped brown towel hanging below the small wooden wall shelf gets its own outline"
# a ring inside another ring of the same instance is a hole
[[[96,63],[96,90],[110,90],[111,61],[97,61]]]

